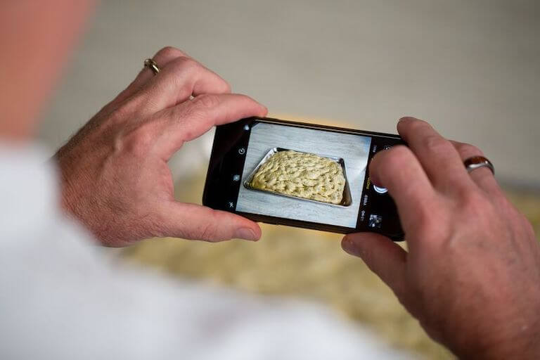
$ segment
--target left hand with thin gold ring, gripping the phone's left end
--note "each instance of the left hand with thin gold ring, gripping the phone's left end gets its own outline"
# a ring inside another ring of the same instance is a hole
[[[174,200],[167,161],[214,125],[264,116],[266,108],[230,94],[224,79],[177,49],[154,60],[158,75],[141,70],[58,150],[63,207],[109,246],[152,236],[257,240],[253,221]]]

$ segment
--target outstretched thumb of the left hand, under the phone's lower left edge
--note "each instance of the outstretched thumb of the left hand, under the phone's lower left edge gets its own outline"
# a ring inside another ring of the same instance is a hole
[[[165,236],[217,242],[242,238],[259,240],[261,229],[254,221],[231,212],[210,207],[172,202],[162,212],[162,232]]]

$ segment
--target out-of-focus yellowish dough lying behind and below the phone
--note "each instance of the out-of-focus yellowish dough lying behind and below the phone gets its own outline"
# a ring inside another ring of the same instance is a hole
[[[204,170],[185,177],[176,186],[177,198],[200,203],[205,174]],[[540,198],[510,195],[532,219],[538,234]],[[262,234],[257,243],[146,240],[122,250],[122,255],[181,278],[321,302],[368,326],[394,347],[426,359],[454,359],[425,335],[418,321],[361,259],[341,250],[339,234],[266,224],[262,224]]]

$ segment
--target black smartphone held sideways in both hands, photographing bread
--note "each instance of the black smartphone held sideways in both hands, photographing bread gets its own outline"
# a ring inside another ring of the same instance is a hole
[[[268,224],[403,240],[394,200],[368,170],[376,153],[398,144],[394,134],[268,117],[220,125],[203,205]]]

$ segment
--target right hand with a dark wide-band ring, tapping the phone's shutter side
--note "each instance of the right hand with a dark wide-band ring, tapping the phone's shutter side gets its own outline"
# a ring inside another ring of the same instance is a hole
[[[540,248],[527,219],[503,195],[482,155],[421,120],[397,125],[409,144],[373,158],[371,179],[388,188],[409,252],[374,233],[345,236],[428,335],[460,358],[540,359]]]

